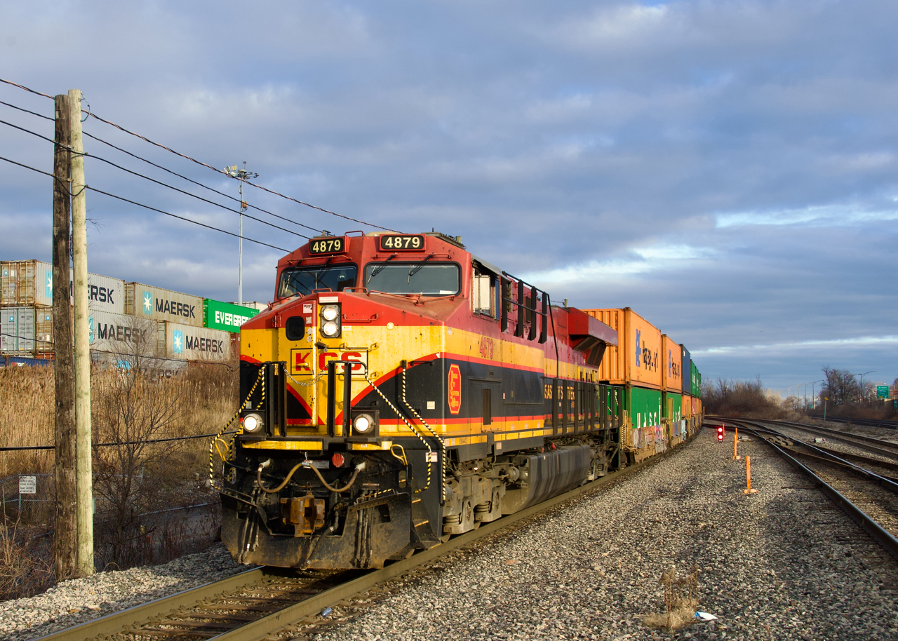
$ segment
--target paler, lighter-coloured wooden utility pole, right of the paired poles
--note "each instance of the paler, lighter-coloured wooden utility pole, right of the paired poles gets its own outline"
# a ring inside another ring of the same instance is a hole
[[[93,464],[91,459],[91,354],[87,310],[87,204],[84,198],[84,141],[81,91],[68,92],[72,131],[72,267],[75,270],[75,431],[78,460],[77,574],[93,574]]]

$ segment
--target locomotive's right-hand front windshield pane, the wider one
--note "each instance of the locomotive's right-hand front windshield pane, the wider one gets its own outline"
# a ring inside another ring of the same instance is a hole
[[[459,293],[460,282],[458,265],[453,263],[428,263],[424,259],[365,265],[364,286],[388,294],[447,296]]]

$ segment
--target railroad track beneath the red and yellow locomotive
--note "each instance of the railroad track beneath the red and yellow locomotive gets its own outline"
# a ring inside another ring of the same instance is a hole
[[[599,490],[678,450],[679,448],[669,450],[539,505],[484,523],[478,530],[455,536],[434,548],[422,550],[411,558],[379,570],[327,573],[258,567],[128,610],[114,612],[34,641],[86,641],[98,637],[107,641],[151,638],[262,641],[295,625],[326,627],[330,622],[318,616],[325,608],[351,600],[359,593],[374,589],[378,584],[404,575],[455,549],[471,545],[534,514]],[[354,601],[348,605],[364,608],[370,603]],[[314,630],[311,629],[304,630],[302,634],[313,633]]]

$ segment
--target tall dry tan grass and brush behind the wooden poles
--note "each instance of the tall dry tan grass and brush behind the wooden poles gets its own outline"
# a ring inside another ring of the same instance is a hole
[[[239,379],[236,363],[230,365],[191,365],[186,372],[171,378],[154,376],[152,372],[135,376],[134,371],[122,373],[114,367],[95,367],[91,380],[93,442],[217,432],[237,408]],[[0,421],[0,443],[54,443],[54,388],[51,366],[0,368],[0,417],[4,419]],[[123,391],[126,388],[130,396]],[[128,423],[128,430],[123,429],[124,422]],[[212,521],[182,513],[171,513],[171,520],[167,516],[144,517],[155,510],[214,500],[202,490],[198,493],[198,486],[202,487],[198,479],[207,475],[207,448],[208,439],[204,438],[130,448],[94,448],[96,554],[101,566],[107,562],[112,562],[112,567],[161,562],[212,542],[216,531],[214,517]],[[129,456],[134,458],[126,461]],[[129,462],[134,465],[129,467]],[[52,474],[53,465],[53,450],[0,452],[0,479]],[[119,487],[126,474],[137,487]],[[43,531],[53,529],[55,497],[52,478],[48,480],[48,485],[39,485],[39,495],[34,497],[48,502],[27,504],[29,510],[22,514],[16,503],[9,503],[17,491],[16,479],[9,479],[4,485],[6,504],[0,511],[5,517],[0,522],[0,599],[39,593],[54,583],[52,537],[32,536],[40,533],[40,526],[19,525],[20,520],[27,519],[43,523]],[[117,491],[119,499],[124,497],[119,500],[122,509],[118,514],[113,503]],[[116,515],[118,519],[110,521]],[[110,536],[110,527],[118,536]],[[27,535],[23,535],[22,528],[27,529]],[[113,549],[110,540],[116,539],[119,546]],[[41,544],[29,543],[30,540]]]

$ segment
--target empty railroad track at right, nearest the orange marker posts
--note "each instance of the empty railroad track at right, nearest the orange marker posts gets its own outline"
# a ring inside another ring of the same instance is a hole
[[[718,419],[762,438],[793,467],[820,487],[824,494],[839,505],[889,554],[898,558],[898,539],[895,538],[895,533],[898,533],[898,483],[810,443],[801,443],[804,452],[792,450],[787,444],[792,441],[788,436],[766,425],[772,421],[714,418]],[[798,461],[798,458],[809,462],[806,465]],[[850,470],[850,479],[846,476],[846,470]]]

